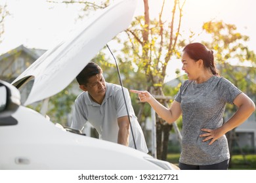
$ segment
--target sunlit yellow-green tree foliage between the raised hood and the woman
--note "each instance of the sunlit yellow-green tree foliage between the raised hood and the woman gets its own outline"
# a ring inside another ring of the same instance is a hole
[[[163,86],[167,63],[171,57],[179,56],[178,38],[184,5],[181,1],[173,1],[171,20],[163,22],[163,8],[171,7],[165,7],[165,1],[162,3],[158,19],[150,20],[148,1],[144,1],[144,16],[137,16],[127,29],[129,39],[123,48],[126,59],[132,59],[138,71],[148,78],[149,88],[153,86],[155,91]]]

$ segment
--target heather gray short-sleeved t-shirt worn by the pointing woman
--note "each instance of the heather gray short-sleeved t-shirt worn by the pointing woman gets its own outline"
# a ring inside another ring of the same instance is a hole
[[[212,76],[202,84],[186,80],[175,101],[182,110],[182,152],[180,162],[188,165],[211,165],[230,158],[226,136],[213,144],[203,142],[202,128],[216,129],[223,125],[226,103],[233,104],[242,93],[226,78]]]

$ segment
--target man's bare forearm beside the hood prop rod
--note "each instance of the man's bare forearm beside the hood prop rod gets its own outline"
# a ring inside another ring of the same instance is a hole
[[[130,133],[130,131],[129,131],[130,123],[129,123],[128,116],[122,116],[120,118],[117,118],[117,123],[119,126],[117,143],[128,146],[129,145],[129,133]]]

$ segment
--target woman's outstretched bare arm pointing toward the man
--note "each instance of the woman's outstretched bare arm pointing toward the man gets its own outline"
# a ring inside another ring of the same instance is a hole
[[[170,108],[166,108],[159,103],[148,91],[130,90],[132,93],[137,93],[141,102],[148,102],[156,111],[158,116],[169,124],[175,122],[181,116],[181,103],[173,101]]]

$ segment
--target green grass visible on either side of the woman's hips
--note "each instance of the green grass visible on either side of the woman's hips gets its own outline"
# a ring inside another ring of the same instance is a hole
[[[179,165],[180,154],[168,154],[167,161]],[[256,154],[233,155],[231,158],[231,167],[234,170],[256,170]]]

